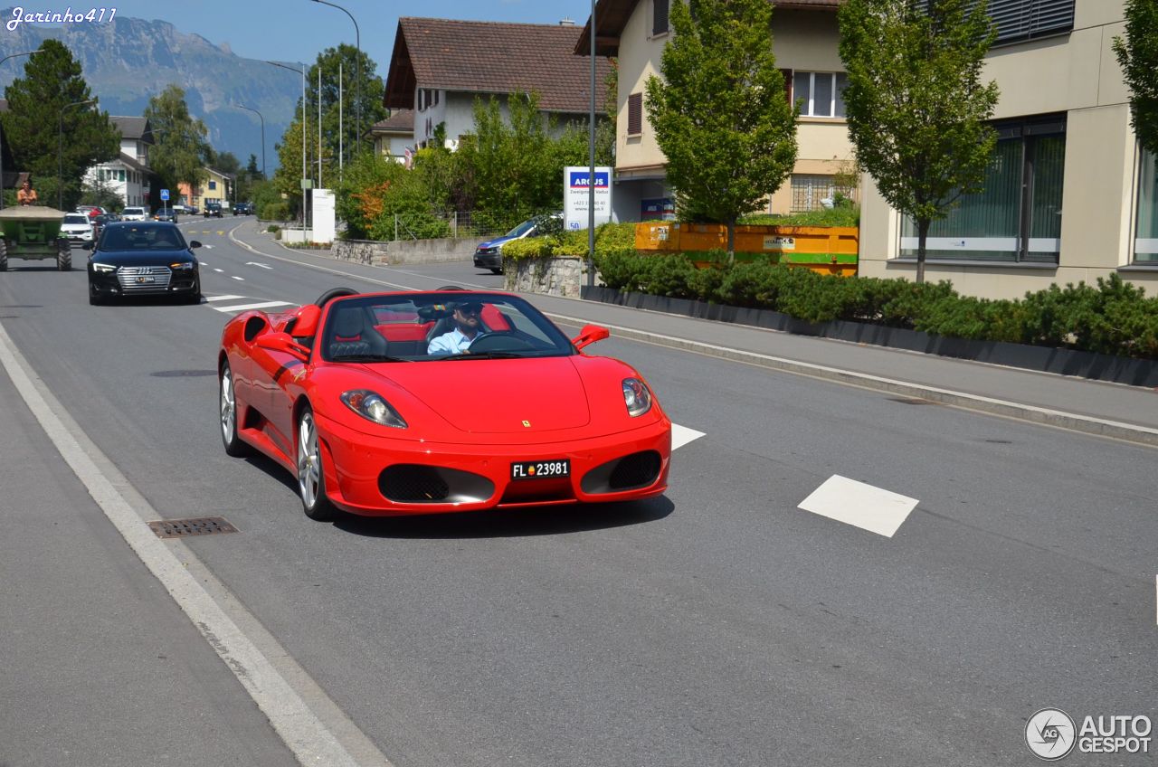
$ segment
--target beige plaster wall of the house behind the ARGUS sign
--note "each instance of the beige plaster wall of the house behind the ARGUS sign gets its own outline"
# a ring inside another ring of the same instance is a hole
[[[646,82],[660,76],[664,46],[670,32],[652,35],[652,3],[637,2],[620,42],[620,89],[616,100],[617,136],[615,173],[617,182],[652,178],[651,191],[643,196],[660,196],[667,162],[655,143],[647,122]],[[837,51],[836,14],[831,12],[772,12],[772,50],[782,70],[805,72],[843,72]],[[628,98],[644,94],[643,130],[628,136]],[[852,159],[852,145],[842,118],[801,117],[797,132],[798,158],[793,174],[833,175]],[[792,205],[791,177],[772,195],[767,210],[786,213]],[[622,183],[616,191],[622,188]],[[622,220],[630,220],[630,206],[617,206]]]

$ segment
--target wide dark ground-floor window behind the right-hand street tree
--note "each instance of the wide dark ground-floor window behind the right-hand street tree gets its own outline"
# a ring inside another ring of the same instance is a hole
[[[926,257],[1057,263],[1062,249],[1065,116],[995,123],[997,148],[982,181],[933,221]],[[902,221],[901,256],[917,255],[917,227]]]

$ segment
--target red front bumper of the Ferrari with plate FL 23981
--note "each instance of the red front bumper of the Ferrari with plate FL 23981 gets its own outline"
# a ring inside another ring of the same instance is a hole
[[[637,501],[662,494],[667,418],[604,437],[535,445],[435,444],[354,431],[315,414],[325,489],[344,511],[393,517],[494,507]],[[567,459],[566,477],[512,480],[515,461]],[[425,497],[424,497],[425,496]]]

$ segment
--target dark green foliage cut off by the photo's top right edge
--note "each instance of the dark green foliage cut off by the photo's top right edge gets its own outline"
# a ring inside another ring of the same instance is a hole
[[[1143,148],[1158,155],[1158,2],[1126,0],[1126,37],[1114,53],[1130,87],[1130,125]]]

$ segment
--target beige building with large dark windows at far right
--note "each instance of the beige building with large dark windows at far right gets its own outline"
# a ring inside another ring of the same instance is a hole
[[[1130,129],[1112,49],[1123,0],[990,0],[997,41],[982,78],[1001,98],[984,191],[928,240],[925,278],[1017,298],[1117,273],[1158,295],[1158,175]],[[916,228],[865,178],[860,273],[911,277]]]

